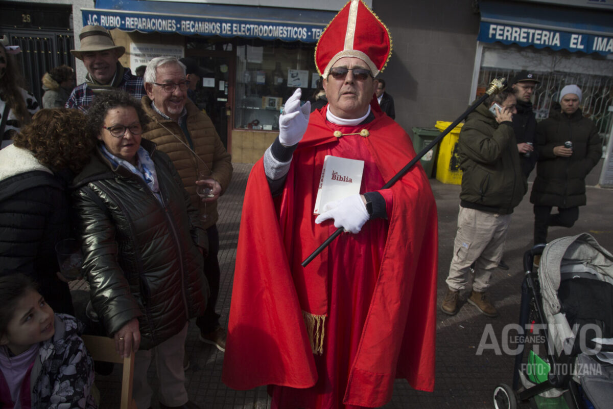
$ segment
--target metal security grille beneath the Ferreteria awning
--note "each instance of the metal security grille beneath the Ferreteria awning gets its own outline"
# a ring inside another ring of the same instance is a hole
[[[515,74],[515,71],[509,70],[482,69],[479,72],[479,84],[489,84],[495,77],[512,78]],[[534,74],[541,82],[533,96],[536,120],[548,118],[550,111],[559,110],[560,90],[565,85],[575,84],[582,92],[581,110],[585,117],[596,123],[598,132],[603,138],[603,152],[606,151],[604,147],[613,124],[613,112],[609,111],[609,107],[613,105],[613,78],[567,72],[534,72]]]

